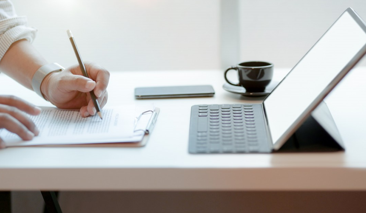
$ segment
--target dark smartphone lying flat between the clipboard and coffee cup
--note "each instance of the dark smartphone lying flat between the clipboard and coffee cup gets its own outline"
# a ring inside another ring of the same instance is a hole
[[[137,87],[135,98],[183,98],[213,96],[211,85],[173,86],[173,87]]]

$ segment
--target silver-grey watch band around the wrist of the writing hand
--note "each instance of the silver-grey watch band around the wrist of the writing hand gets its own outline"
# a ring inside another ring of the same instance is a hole
[[[44,95],[41,92],[41,84],[43,79],[53,73],[53,72],[61,72],[63,71],[65,68],[63,68],[63,66],[57,64],[57,63],[52,63],[52,64],[46,64],[41,66],[41,68],[39,68],[36,73],[34,73],[33,78],[32,78],[32,88],[33,91],[36,92],[39,96],[41,96],[42,98],[45,99]]]

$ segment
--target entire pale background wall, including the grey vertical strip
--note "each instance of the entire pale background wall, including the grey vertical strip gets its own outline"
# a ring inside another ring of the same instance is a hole
[[[366,19],[365,0],[13,3],[38,28],[34,45],[49,62],[76,63],[66,35],[70,29],[83,60],[111,71],[222,69],[246,60],[292,67],[347,7]]]

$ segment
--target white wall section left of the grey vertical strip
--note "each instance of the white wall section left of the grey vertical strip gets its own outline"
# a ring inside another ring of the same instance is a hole
[[[38,28],[34,46],[49,62],[84,61],[113,70],[216,69],[219,0],[12,0]]]

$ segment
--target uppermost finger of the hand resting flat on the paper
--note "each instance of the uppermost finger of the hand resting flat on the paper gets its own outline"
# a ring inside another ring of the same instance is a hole
[[[22,100],[13,95],[0,95],[0,104],[9,105],[25,111],[31,115],[38,115],[41,113],[41,108]]]

